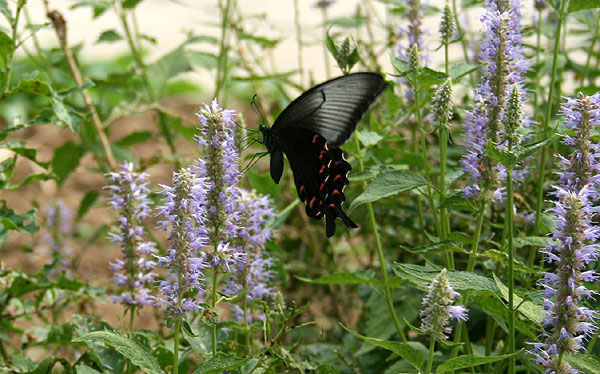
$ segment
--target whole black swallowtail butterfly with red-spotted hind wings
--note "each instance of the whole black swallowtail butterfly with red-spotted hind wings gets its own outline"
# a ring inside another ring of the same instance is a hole
[[[348,227],[358,227],[342,211],[351,167],[338,147],[385,87],[379,74],[344,75],[303,93],[271,128],[260,126],[263,144],[271,154],[271,178],[279,183],[285,153],[306,214],[315,219],[325,216],[327,237],[335,234],[337,217]]]

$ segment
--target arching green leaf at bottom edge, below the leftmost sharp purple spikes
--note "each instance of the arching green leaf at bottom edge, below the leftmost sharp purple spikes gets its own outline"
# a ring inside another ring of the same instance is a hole
[[[120,354],[127,357],[132,364],[139,366],[139,368],[146,373],[163,374],[160,365],[152,353],[146,349],[146,347],[138,343],[136,340],[125,337],[115,331],[93,331],[78,339],[75,339],[74,341],[100,341],[113,347]]]

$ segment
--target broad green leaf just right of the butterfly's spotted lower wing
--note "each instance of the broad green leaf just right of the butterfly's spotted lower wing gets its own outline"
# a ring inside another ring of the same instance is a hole
[[[409,171],[391,171],[384,173],[375,177],[371,183],[367,185],[364,192],[352,201],[348,211],[352,212],[363,204],[410,191],[426,184],[427,181],[425,178]]]

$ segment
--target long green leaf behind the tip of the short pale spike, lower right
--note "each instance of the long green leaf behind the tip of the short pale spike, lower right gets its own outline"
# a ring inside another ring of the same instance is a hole
[[[410,282],[420,285],[422,289],[427,288],[425,283],[430,283],[440,273],[439,269],[433,269],[422,265],[394,263],[394,273]],[[499,292],[496,283],[484,276],[466,271],[448,270],[448,281],[455,291],[479,291],[497,294]]]

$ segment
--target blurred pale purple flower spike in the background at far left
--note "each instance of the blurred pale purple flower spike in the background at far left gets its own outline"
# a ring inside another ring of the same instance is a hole
[[[73,236],[73,211],[62,200],[50,205],[43,219],[44,241],[48,245],[48,251],[52,256],[54,266],[49,275],[65,274],[70,276],[73,248],[71,238]]]

